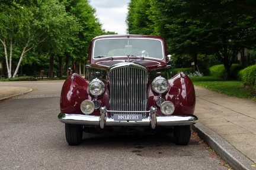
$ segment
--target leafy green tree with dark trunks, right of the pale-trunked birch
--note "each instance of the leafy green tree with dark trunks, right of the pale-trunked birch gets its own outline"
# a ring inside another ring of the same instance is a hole
[[[72,48],[72,41],[82,29],[77,19],[69,15],[65,6],[57,0],[44,2],[40,6],[39,19],[36,21],[37,32],[47,39],[37,48],[40,53],[49,56],[49,76],[53,77],[53,62],[59,59],[59,76],[62,76],[62,57]]]

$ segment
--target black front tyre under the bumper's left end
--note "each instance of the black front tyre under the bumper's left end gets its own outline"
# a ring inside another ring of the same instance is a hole
[[[79,145],[82,143],[83,126],[65,124],[66,141],[69,145]]]

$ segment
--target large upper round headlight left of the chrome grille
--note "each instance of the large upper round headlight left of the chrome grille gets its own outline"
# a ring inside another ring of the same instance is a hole
[[[105,91],[105,84],[103,81],[94,79],[89,83],[89,93],[94,96],[100,96]]]

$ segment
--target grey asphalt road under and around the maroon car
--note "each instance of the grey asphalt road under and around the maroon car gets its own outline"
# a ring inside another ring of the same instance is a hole
[[[62,84],[5,84],[33,91],[0,103],[0,169],[228,169],[195,134],[188,146],[169,134],[115,133],[87,134],[69,146],[57,120]]]

